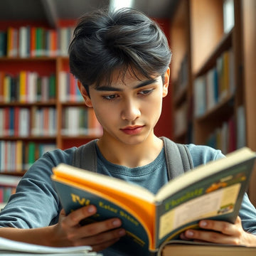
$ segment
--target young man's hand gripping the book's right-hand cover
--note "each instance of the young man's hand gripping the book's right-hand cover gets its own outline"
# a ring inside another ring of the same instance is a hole
[[[217,220],[201,220],[199,227],[202,229],[186,230],[181,234],[181,239],[229,245],[256,246],[256,235],[243,230],[239,217],[235,220],[234,224]]]

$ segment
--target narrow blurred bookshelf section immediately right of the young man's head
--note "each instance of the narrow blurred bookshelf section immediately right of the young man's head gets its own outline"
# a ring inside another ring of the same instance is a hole
[[[191,43],[189,23],[189,1],[179,1],[171,21],[170,45],[173,52],[171,60],[171,87],[174,95],[172,116],[174,117],[174,140],[185,143],[188,140],[188,127],[191,107]]]

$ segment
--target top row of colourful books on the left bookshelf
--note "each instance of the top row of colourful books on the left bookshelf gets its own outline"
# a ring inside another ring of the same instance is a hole
[[[73,26],[56,30],[36,26],[9,27],[0,31],[0,57],[68,56],[73,29]]]

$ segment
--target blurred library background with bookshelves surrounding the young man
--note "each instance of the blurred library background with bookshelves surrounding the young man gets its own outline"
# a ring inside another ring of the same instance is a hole
[[[159,23],[173,54],[156,135],[223,154],[256,151],[255,2],[133,1]],[[44,152],[101,136],[70,74],[68,46],[80,15],[107,4],[0,1],[0,208]],[[247,188],[254,206],[255,180],[256,168]]]

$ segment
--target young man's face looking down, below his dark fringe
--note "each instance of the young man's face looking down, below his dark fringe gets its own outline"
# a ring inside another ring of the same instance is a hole
[[[110,86],[90,87],[87,106],[93,107],[103,128],[103,137],[124,144],[138,144],[154,133],[159,120],[162,98],[167,95],[169,70],[165,81],[161,76],[147,79],[129,73],[124,80],[113,75]]]

